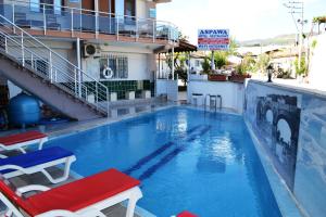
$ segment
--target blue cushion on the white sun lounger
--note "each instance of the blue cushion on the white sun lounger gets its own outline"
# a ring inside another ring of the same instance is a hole
[[[16,165],[23,168],[29,168],[72,155],[74,155],[73,152],[64,150],[60,146],[53,146],[35,152],[28,152],[26,154],[0,158],[0,167],[4,165]],[[14,171],[14,169],[0,170],[1,174],[8,174],[11,171]]]

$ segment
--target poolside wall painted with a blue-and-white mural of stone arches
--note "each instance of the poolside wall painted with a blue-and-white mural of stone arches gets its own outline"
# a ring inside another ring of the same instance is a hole
[[[249,81],[244,117],[309,216],[326,213],[326,94]]]

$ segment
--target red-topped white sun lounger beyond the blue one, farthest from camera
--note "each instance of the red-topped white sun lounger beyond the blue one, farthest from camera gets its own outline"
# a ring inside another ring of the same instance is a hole
[[[27,131],[17,135],[10,135],[0,137],[0,151],[20,150],[21,152],[26,153],[26,146],[38,143],[38,150],[41,150],[43,143],[47,141],[48,136],[39,131]]]

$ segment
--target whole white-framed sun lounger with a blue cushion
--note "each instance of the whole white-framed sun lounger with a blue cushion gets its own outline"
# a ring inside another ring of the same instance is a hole
[[[0,174],[7,179],[24,174],[42,173],[49,181],[58,183],[67,179],[71,164],[76,161],[75,155],[62,148],[53,146],[16,156],[0,158]],[[53,178],[46,168],[65,164],[63,176]]]

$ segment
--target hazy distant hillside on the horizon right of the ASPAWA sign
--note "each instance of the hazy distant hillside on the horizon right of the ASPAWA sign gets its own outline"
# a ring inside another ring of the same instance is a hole
[[[254,47],[254,46],[290,46],[296,43],[296,34],[288,34],[288,35],[279,35],[273,38],[266,39],[253,39],[253,40],[246,40],[246,41],[238,41],[240,47]]]

